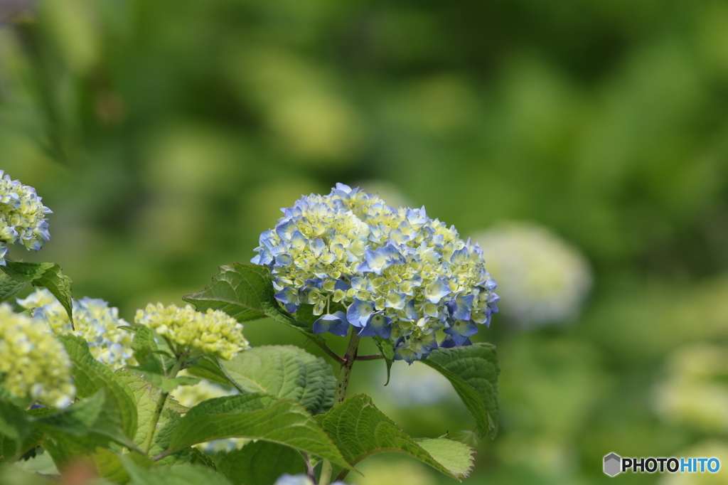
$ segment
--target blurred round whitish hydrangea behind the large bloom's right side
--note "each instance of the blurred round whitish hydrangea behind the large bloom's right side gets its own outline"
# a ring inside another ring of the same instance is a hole
[[[508,223],[472,236],[505,299],[504,315],[529,328],[576,318],[592,285],[584,256],[545,227]]]

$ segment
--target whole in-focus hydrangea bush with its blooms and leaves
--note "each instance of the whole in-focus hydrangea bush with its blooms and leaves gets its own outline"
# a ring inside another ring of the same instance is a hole
[[[31,187],[6,176],[0,204],[4,243],[50,239]],[[84,466],[111,484],[343,485],[360,460],[399,451],[467,477],[470,446],[447,430],[411,438],[347,387],[359,361],[389,376],[395,360],[420,360],[460,395],[470,433],[494,435],[496,352],[472,336],[498,296],[478,244],[424,208],[337,184],[283,209],[255,251],[186,307],[150,303],[127,323],[106,301],[74,299],[58,264],[11,259],[3,245],[0,472],[50,455],[53,475]],[[16,298],[28,285],[38,288]],[[261,318],[323,356],[251,347],[242,323]],[[339,355],[330,343],[344,338]],[[365,338],[380,353],[360,355]]]

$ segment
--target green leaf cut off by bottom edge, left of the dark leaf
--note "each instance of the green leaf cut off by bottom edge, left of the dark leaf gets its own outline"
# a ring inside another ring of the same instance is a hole
[[[147,470],[126,457],[122,460],[131,478],[130,485],[231,485],[220,473],[202,465],[182,463]]]

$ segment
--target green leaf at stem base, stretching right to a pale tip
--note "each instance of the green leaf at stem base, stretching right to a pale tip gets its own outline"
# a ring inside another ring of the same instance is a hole
[[[317,419],[347,462],[352,465],[372,454],[402,452],[451,478],[462,476],[462,467],[451,470],[445,463],[438,462],[424,447],[395,425],[392,419],[379,411],[368,395],[354,395],[328,413],[317,416]],[[347,470],[344,470],[339,478],[346,474]]]

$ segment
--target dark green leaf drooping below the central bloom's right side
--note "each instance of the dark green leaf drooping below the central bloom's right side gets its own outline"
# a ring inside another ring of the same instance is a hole
[[[478,426],[478,435],[498,430],[498,358],[491,344],[433,350],[422,363],[446,376]]]

